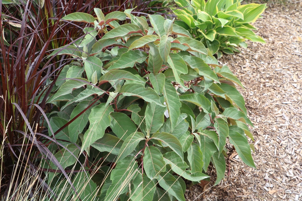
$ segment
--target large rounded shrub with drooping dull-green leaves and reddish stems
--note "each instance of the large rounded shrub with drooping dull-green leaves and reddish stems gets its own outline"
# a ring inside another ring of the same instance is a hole
[[[223,179],[227,141],[255,167],[240,81],[173,20],[130,11],[63,17],[92,26],[53,52],[73,62],[49,99],[49,135],[60,142],[49,149],[84,189],[66,190],[53,163],[45,171],[50,187],[66,198],[185,200],[184,179],[207,179],[210,163],[215,184]],[[126,17],[131,23],[120,25]]]

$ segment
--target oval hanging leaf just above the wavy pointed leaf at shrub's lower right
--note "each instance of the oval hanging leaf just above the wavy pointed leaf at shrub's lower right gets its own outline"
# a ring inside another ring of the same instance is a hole
[[[204,166],[202,159],[203,153],[201,152],[200,147],[196,143],[192,143],[188,149],[188,161],[191,166],[191,173],[202,172],[202,167]]]

